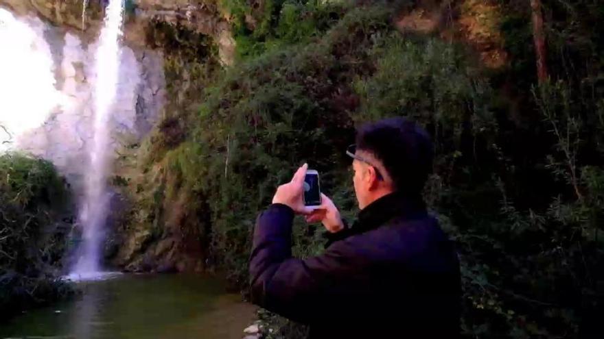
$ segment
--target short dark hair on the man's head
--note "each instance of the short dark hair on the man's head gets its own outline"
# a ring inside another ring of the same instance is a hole
[[[406,118],[387,118],[362,125],[356,149],[372,153],[393,180],[394,190],[421,194],[432,172],[434,151],[425,129]]]

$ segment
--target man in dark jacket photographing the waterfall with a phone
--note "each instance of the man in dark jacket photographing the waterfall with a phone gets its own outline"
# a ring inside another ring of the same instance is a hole
[[[325,194],[317,210],[305,207],[304,164],[257,219],[252,301],[310,325],[311,338],[458,336],[457,255],[421,199],[430,137],[404,118],[386,119],[364,125],[347,154],[358,221],[347,227]],[[292,258],[295,214],[323,223],[330,234],[323,255]]]

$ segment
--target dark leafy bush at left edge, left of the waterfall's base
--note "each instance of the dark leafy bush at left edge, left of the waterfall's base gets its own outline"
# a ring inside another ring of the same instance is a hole
[[[0,321],[71,293],[58,278],[69,232],[60,213],[68,198],[49,162],[0,155]]]

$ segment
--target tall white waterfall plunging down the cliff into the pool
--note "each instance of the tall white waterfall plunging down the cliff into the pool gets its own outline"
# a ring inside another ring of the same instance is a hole
[[[89,145],[89,171],[85,197],[79,214],[83,228],[80,258],[69,275],[72,279],[96,279],[100,271],[100,250],[107,219],[109,193],[106,188],[111,155],[110,119],[117,95],[119,73],[119,37],[123,21],[124,0],[111,0],[106,8],[104,27],[95,55],[94,137]]]

